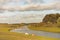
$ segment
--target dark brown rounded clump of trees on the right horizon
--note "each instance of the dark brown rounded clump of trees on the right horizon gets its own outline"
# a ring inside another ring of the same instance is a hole
[[[60,17],[60,14],[47,14],[44,18],[42,22],[48,23],[57,23],[57,19]]]

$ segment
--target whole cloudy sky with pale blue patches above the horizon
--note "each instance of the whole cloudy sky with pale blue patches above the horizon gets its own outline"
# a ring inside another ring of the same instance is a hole
[[[22,10],[19,12],[5,11],[3,13],[0,13],[1,23],[4,22],[15,23],[16,21],[18,23],[40,22],[41,18],[44,17],[44,15],[46,14],[60,13],[60,0],[0,0],[0,7],[4,9]],[[24,10],[32,10],[32,11],[24,11]],[[17,17],[18,15],[19,18],[15,19],[15,17]],[[34,18],[33,17],[28,18],[29,16],[33,16],[33,15]],[[10,19],[10,17],[12,20]]]

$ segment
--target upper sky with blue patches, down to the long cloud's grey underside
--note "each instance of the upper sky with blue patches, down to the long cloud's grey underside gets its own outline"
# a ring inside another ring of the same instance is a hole
[[[3,8],[19,10],[60,9],[60,0],[8,0],[0,1]]]

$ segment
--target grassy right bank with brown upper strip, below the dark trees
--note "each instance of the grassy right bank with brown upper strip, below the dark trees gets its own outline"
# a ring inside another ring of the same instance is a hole
[[[60,27],[57,27],[57,24],[40,24],[40,23],[33,23],[29,24],[28,28],[31,30],[37,31],[47,31],[47,32],[56,32],[60,33]]]

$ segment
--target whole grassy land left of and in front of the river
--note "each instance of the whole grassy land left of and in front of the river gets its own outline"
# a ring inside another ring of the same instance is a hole
[[[12,27],[11,27],[12,26]],[[17,24],[0,24],[0,40],[60,40],[60,38],[49,38],[25,33],[9,32],[14,28],[19,28]]]

